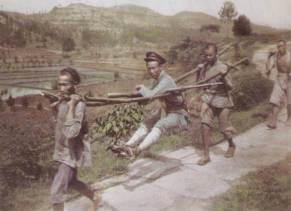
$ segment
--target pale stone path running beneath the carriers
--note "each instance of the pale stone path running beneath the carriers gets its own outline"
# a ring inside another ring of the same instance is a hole
[[[267,49],[256,55],[265,62],[262,58],[267,57]],[[204,151],[193,147],[164,152],[156,159],[136,160],[126,175],[93,185],[99,190],[110,186],[101,192],[98,210],[210,210],[212,197],[229,190],[239,178],[284,159],[291,149],[291,130],[284,127],[286,113],[285,109],[280,110],[275,130],[260,123],[236,136],[235,155],[230,159],[224,157],[228,148],[225,141],[210,148],[211,162],[205,166],[197,165]],[[90,202],[84,197],[65,204],[66,210],[83,211],[89,207]]]

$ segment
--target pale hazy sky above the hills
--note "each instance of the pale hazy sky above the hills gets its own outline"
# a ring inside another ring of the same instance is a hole
[[[54,6],[82,2],[97,7],[135,4],[148,7],[162,15],[180,11],[203,12],[215,17],[225,0],[0,0],[0,10],[32,14],[50,11]],[[247,16],[252,23],[279,29],[291,29],[291,0],[232,0],[238,15]]]

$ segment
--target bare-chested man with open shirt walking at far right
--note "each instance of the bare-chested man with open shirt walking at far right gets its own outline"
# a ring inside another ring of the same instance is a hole
[[[271,70],[277,65],[278,75],[276,77],[270,103],[273,105],[273,120],[267,124],[268,128],[276,128],[277,116],[281,98],[285,92],[287,100],[287,120],[285,126],[291,126],[291,74],[290,74],[290,52],[286,51],[285,40],[278,40],[278,52],[270,52],[266,70],[270,74]]]

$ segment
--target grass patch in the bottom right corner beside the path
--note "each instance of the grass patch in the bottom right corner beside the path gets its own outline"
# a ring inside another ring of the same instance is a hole
[[[249,172],[240,185],[213,199],[210,210],[291,210],[291,154],[274,165]]]

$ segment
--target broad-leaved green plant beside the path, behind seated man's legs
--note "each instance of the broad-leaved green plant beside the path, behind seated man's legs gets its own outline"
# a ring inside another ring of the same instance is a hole
[[[145,118],[146,106],[118,105],[107,110],[105,117],[97,117],[93,121],[90,133],[93,141],[102,141],[104,137],[112,137],[111,143],[116,144],[123,137],[130,136],[130,131],[137,128]]]

